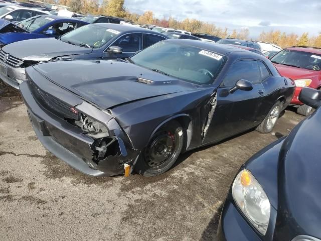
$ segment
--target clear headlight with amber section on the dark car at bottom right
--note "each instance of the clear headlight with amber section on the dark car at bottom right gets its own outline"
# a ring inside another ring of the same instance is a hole
[[[262,235],[265,235],[270,220],[271,205],[263,188],[250,171],[244,169],[236,176],[232,195],[243,214]]]

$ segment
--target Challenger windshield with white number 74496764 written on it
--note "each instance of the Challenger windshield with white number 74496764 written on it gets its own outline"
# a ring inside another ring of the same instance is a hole
[[[226,57],[189,45],[158,42],[133,56],[130,61],[195,84],[211,84]]]

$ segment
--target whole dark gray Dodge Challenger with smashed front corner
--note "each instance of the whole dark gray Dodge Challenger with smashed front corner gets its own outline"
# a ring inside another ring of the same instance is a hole
[[[26,76],[37,137],[92,176],[155,176],[182,152],[271,132],[294,91],[264,56],[194,40],[162,41],[128,60],[38,64]]]

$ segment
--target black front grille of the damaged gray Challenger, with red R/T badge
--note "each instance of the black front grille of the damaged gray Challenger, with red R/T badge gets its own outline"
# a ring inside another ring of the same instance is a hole
[[[43,108],[62,118],[79,119],[79,112],[73,112],[72,105],[67,104],[55,96],[39,89],[38,86],[30,79],[28,80],[28,85],[34,98]]]

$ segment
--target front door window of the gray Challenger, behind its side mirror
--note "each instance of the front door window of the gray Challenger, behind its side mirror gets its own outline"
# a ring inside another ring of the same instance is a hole
[[[240,79],[246,79],[253,84],[260,82],[257,61],[241,60],[234,63],[223,80],[223,86],[233,87]]]

